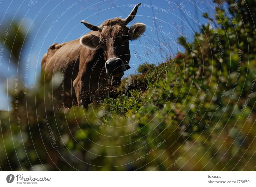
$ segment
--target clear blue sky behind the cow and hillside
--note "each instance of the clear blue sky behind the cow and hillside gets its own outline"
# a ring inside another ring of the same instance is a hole
[[[132,4],[138,3],[142,5],[130,24],[142,22],[147,25],[147,30],[140,40],[130,42],[132,68],[125,72],[125,76],[135,73],[137,66],[145,61],[161,63],[165,61],[165,54],[173,56],[182,51],[175,43],[177,38],[184,35],[191,40],[194,32],[207,22],[202,18],[203,12],[213,12],[214,6],[212,1],[204,0],[0,0],[0,26],[8,28],[12,21],[16,21],[28,33],[19,63],[25,66],[29,59],[28,85],[31,87],[36,84],[41,59],[52,43],[75,40],[89,32],[81,20],[100,25],[107,19],[125,18],[131,12]],[[180,9],[179,4],[182,4]],[[17,67],[9,66],[9,57],[3,55],[0,74],[12,84],[16,72]],[[3,80],[0,84],[0,110],[8,110],[6,83]]]

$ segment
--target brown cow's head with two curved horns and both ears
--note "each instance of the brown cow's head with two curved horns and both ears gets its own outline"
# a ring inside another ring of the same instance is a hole
[[[81,37],[80,43],[91,50],[102,48],[105,54],[106,73],[117,79],[124,75],[124,71],[130,68],[129,40],[140,37],[145,31],[145,24],[135,23],[130,28],[127,24],[135,17],[140,4],[134,6],[132,12],[125,19],[109,19],[100,26],[94,26],[86,21],[81,21],[93,31],[99,31],[100,35],[87,34]]]

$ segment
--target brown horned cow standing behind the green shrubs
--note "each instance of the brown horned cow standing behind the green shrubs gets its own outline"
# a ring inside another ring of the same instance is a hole
[[[91,32],[49,47],[42,59],[41,75],[44,82],[58,85],[51,95],[59,96],[63,106],[87,107],[120,86],[124,71],[130,68],[129,40],[139,38],[146,28],[143,23],[127,27],[139,6],[135,5],[125,19],[108,19],[100,26],[83,20]]]

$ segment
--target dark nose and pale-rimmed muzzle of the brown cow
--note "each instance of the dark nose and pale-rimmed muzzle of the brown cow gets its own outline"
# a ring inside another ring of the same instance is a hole
[[[110,58],[105,63],[106,72],[112,76],[123,76],[126,66],[121,58]]]

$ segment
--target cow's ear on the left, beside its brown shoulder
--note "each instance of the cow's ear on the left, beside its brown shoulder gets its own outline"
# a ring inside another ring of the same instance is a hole
[[[91,50],[99,49],[101,46],[100,38],[98,36],[91,34],[82,36],[80,38],[80,44]]]

